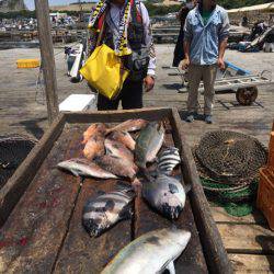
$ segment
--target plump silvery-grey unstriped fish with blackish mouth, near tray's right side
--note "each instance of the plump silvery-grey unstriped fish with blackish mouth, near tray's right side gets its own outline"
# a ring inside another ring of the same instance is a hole
[[[178,219],[185,206],[186,192],[176,179],[158,173],[156,179],[145,175],[141,194],[147,203],[164,217]]]

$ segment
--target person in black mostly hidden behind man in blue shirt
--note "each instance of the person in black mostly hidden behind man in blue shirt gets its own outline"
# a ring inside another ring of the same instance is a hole
[[[183,4],[181,10],[178,13],[178,19],[181,23],[180,34],[178,36],[176,46],[174,49],[174,58],[172,66],[179,67],[180,62],[184,59],[184,23],[189,12],[196,5],[196,0],[187,0],[186,3]]]

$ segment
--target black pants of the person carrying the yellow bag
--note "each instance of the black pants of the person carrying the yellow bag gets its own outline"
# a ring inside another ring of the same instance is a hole
[[[142,107],[142,81],[133,82],[125,81],[124,87],[115,100],[109,100],[107,98],[98,95],[98,110],[99,111],[112,111],[117,110],[122,101],[124,110],[141,109]]]

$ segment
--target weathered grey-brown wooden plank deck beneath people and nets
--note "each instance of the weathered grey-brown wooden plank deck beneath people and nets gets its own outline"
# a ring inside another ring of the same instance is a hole
[[[61,49],[56,49],[60,53]],[[172,61],[173,46],[158,46],[158,79],[153,92],[145,95],[146,106],[175,106],[182,117],[185,115],[186,94],[178,94],[181,80],[172,72],[162,69]],[[19,58],[38,57],[36,49],[0,52],[0,119],[1,134],[31,134],[41,138],[48,128],[46,106],[42,93],[35,101],[35,82],[37,69],[18,70],[15,60]],[[228,52],[229,61],[256,73],[264,69],[274,71],[273,54],[241,54]],[[64,55],[56,56],[59,100],[71,93],[88,93],[84,83],[72,84],[66,77]],[[174,72],[174,71],[173,71]],[[260,104],[239,106],[235,94],[216,96],[215,124],[208,126],[202,119],[193,124],[183,123],[187,142],[198,142],[204,133],[215,129],[238,130],[259,138],[267,145],[274,118],[274,85],[259,89]],[[203,106],[203,101],[201,101]],[[237,273],[272,273],[274,272],[274,232],[264,217],[255,212],[253,215],[236,218],[230,217],[222,208],[212,207],[213,216],[221,233],[225,247]]]

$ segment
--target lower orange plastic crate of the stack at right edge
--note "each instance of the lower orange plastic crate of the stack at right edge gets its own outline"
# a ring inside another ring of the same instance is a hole
[[[274,230],[274,172],[271,169],[260,170],[256,206],[263,212],[271,229]]]

